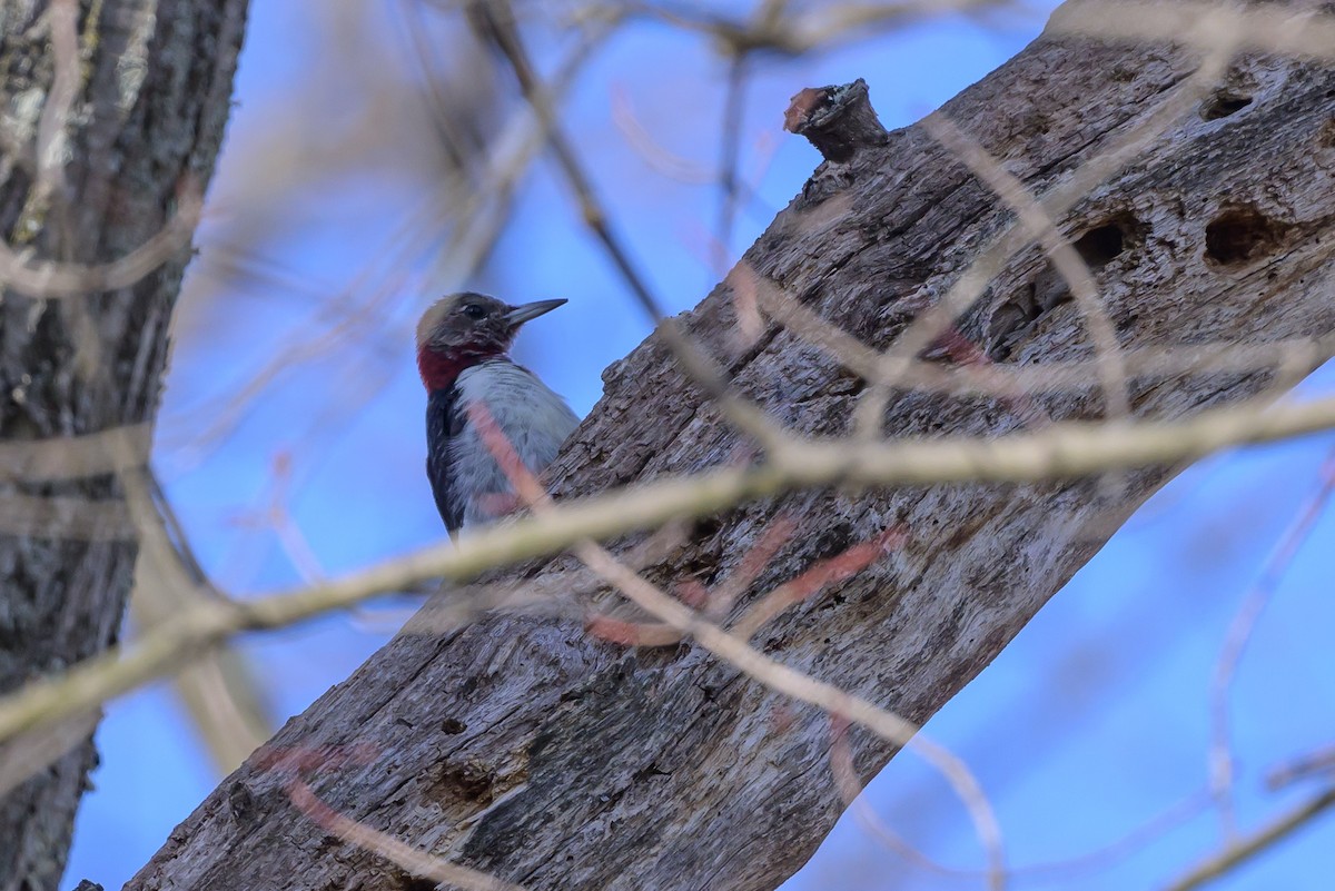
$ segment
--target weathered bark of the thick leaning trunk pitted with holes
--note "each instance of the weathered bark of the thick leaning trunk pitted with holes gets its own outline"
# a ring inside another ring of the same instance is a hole
[[[1040,39],[944,111],[1043,192],[1143,120],[1193,63],[1165,45]],[[1228,87],[1251,101],[1218,115],[1207,97],[1063,221],[1088,233],[1081,245],[1124,348],[1335,329],[1335,72],[1250,56]],[[826,139],[848,161],[824,164],[745,261],[885,347],[1009,215],[921,128],[868,143]],[[1089,357],[1079,311],[1049,280],[1037,251],[1023,252],[960,328],[1000,363]],[[862,384],[773,325],[734,352],[728,285],[686,327],[773,417],[813,433],[848,429]],[[605,397],[555,468],[559,495],[736,460],[741,437],[657,337],[605,380]],[[1139,416],[1176,417],[1270,380],[1267,371],[1141,375],[1132,405]],[[1035,401],[1057,419],[1103,412],[1092,385]],[[898,392],[885,427],[997,436],[1021,421],[1004,400]],[[754,595],[902,526],[901,550],[790,610],[757,644],[924,720],[1169,474],[1145,468],[1120,488],[1063,480],[801,492],[697,524],[649,576],[722,579],[782,511],[800,534]],[[893,754],[861,732],[853,744],[864,776]],[[550,618],[487,615],[443,636],[406,632],[291,720],[274,747],[330,747],[327,768],[308,779],[331,807],[530,888],[772,888],[842,810],[826,764],[826,715],[786,703],[689,642],[630,650]],[[374,756],[350,763],[332,754],[344,747]],[[127,887],[429,887],[327,835],[294,807],[286,780],[260,760],[243,766]]]

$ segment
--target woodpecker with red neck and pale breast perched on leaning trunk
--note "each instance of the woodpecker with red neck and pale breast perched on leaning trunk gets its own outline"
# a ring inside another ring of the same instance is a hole
[[[566,400],[509,356],[525,321],[565,303],[511,307],[482,293],[451,293],[418,323],[418,371],[427,391],[426,475],[451,538],[510,512],[515,498],[469,416],[470,405],[486,407],[534,474],[551,463],[579,423]]]

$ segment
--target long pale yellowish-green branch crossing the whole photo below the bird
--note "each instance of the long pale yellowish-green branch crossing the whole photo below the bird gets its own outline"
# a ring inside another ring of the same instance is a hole
[[[128,650],[111,650],[0,698],[0,740],[96,706],[156,678],[240,631],[278,628],[343,610],[421,579],[465,582],[483,571],[736,507],[754,498],[841,483],[846,487],[1073,479],[1109,470],[1177,464],[1248,443],[1335,427],[1335,397],[1262,411],[1252,404],[1135,427],[1064,423],[1000,440],[969,437],[872,443],[785,440],[761,467],[724,467],[566,502],[541,518],[481,530],[327,584],[246,602],[200,604]]]

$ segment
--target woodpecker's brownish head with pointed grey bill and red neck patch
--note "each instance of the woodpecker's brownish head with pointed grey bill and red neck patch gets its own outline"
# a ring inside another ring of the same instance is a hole
[[[465,368],[505,355],[525,321],[563,303],[537,300],[511,307],[470,291],[437,300],[418,323],[422,383],[427,389],[449,389]]]

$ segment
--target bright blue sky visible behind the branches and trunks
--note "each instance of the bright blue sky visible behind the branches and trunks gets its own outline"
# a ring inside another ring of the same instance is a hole
[[[431,193],[433,147],[423,144],[430,111],[400,40],[405,19],[396,3],[348,15],[358,27],[340,31],[315,3],[254,4],[239,105],[210,193],[200,261],[182,300],[156,462],[204,566],[239,595],[300,580],[274,534],[247,522],[271,498],[278,458],[292,468],[286,488],[292,519],[326,574],[441,538],[422,476],[425,397],[411,352],[411,323],[433,296],[467,284],[514,301],[569,297],[525,332],[518,353],[579,412],[598,399],[602,368],[649,333],[546,161],[525,181],[513,224],[477,279],[433,271],[439,239],[423,211]],[[886,125],[905,125],[1000,65],[1041,24],[1043,13],[948,19],[813,57],[760,61],[746,93],[741,169],[757,177],[761,208],[738,216],[730,255],[758,235],[818,161],[805,141],[780,131],[793,92],[861,76]],[[351,69],[331,61],[331,35],[358,49]],[[433,31],[433,39],[447,35],[447,27]],[[360,97],[358,73],[371,71],[402,89]],[[613,219],[674,309],[694,305],[717,279],[704,259],[717,192],[651,169],[617,128],[613,107],[625,97],[663,151],[710,169],[724,72],[698,36],[639,23],[598,51],[566,111]],[[684,96],[690,113],[682,113]],[[367,121],[382,120],[368,108],[392,124],[367,137],[372,151],[346,169],[303,179],[308,159],[364,137]],[[295,184],[263,203],[260,180]],[[219,283],[210,263],[255,231],[264,237],[262,247],[247,245],[250,261],[271,275]],[[366,309],[351,324],[356,336],[310,361],[280,360],[272,385],[231,417],[230,395],[292,343],[340,319],[347,305]],[[1304,387],[1327,392],[1331,375],[1318,372]],[[1208,687],[1227,626],[1315,491],[1332,443],[1311,436],[1246,450],[1181,475],[929,723],[925,732],[979,772],[1015,863],[1099,848],[1204,786]],[[1323,518],[1283,578],[1238,676],[1244,827],[1311,791],[1268,794],[1266,770],[1331,742],[1335,607],[1324,555],[1332,540],[1335,530]],[[383,643],[398,618],[384,612],[383,620],[334,616],[243,642],[279,723]],[[163,686],[112,703],[99,743],[103,766],[79,819],[67,884],[87,876],[111,888],[219,778]],[[868,800],[932,856],[981,864],[959,806],[913,758],[892,762]],[[1332,842],[1330,822],[1316,823],[1218,887],[1323,888],[1335,866]],[[1218,820],[1207,812],[1108,870],[1052,887],[1157,887],[1218,844]],[[908,866],[846,816],[786,887],[981,883]]]

